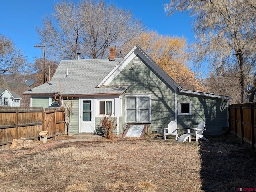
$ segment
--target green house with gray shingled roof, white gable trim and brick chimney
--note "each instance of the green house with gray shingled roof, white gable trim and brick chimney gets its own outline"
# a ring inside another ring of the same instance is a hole
[[[50,106],[55,95],[64,101],[74,96],[72,135],[94,133],[108,114],[116,119],[117,134],[129,124],[147,124],[150,132],[162,133],[172,120],[179,134],[202,120],[205,135],[227,127],[230,97],[182,89],[138,46],[122,59],[115,55],[110,46],[109,59],[62,60],[49,83],[24,94],[35,107]]]

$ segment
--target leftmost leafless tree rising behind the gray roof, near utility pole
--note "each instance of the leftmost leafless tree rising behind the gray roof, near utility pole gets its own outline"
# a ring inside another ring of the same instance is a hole
[[[42,42],[53,45],[46,49],[60,59],[75,59],[76,52],[82,49],[81,10],[75,2],[63,1],[54,5],[54,13],[43,19],[43,27],[37,28]],[[78,46],[80,45],[80,46]]]

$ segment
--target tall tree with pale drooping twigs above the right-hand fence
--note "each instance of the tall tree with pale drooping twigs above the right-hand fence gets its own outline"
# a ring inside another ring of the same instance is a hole
[[[237,71],[240,98],[245,103],[245,89],[255,72],[256,1],[172,0],[165,10],[169,16],[187,10],[194,17],[196,65],[207,61],[215,75],[220,71],[227,74],[230,69]]]

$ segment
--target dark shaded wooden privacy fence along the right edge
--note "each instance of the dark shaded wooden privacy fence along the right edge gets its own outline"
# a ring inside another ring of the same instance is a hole
[[[255,150],[256,103],[234,104],[230,105],[228,110],[230,132]]]

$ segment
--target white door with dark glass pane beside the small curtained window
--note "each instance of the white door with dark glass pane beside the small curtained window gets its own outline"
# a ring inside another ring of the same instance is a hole
[[[81,99],[80,133],[94,133],[94,105],[92,99]]]

